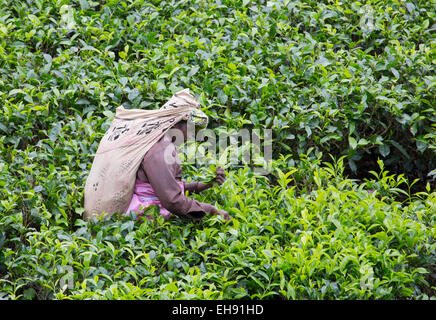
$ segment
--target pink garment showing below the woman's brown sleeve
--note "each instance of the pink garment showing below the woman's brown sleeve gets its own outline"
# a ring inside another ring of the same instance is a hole
[[[177,181],[180,188],[182,189],[182,193],[185,192],[184,184],[182,181]],[[128,214],[130,211],[134,211],[138,214],[138,217],[142,216],[142,213],[145,208],[157,204],[160,209],[160,214],[164,217],[164,219],[169,219],[171,216],[171,212],[162,207],[162,204],[159,201],[159,198],[154,193],[154,190],[151,184],[146,182],[141,182],[136,179],[135,188],[133,190],[132,200],[130,201],[130,205],[127,208],[126,213]],[[151,220],[152,217],[146,216],[147,219]]]

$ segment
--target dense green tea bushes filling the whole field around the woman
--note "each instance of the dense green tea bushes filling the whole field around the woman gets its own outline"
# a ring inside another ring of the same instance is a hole
[[[435,297],[434,16],[429,1],[0,0],[0,298]],[[229,168],[196,196],[228,224],[84,222],[115,108],[186,87],[217,131],[271,128],[272,173]]]

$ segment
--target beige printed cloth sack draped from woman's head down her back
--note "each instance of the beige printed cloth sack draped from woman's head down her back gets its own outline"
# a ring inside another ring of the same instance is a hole
[[[184,89],[158,110],[116,109],[115,119],[100,141],[84,192],[85,219],[129,206],[136,172],[145,154],[176,123],[207,123],[200,103]]]

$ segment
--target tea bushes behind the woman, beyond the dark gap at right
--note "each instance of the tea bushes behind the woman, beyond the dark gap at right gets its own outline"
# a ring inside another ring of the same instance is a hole
[[[24,148],[75,114],[149,108],[189,87],[216,124],[272,128],[277,153],[297,160],[313,147],[347,155],[354,171],[380,157],[426,179],[436,167],[432,9],[2,1],[0,130]]]

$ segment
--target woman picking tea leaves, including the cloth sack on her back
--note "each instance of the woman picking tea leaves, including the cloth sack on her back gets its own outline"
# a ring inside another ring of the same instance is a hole
[[[185,196],[185,191],[201,192],[211,184],[181,181],[170,132],[183,135],[186,141],[188,125],[207,125],[208,118],[199,107],[189,89],[175,93],[160,109],[118,107],[86,179],[84,218],[109,218],[131,210],[141,213],[144,207],[157,204],[165,218],[173,213],[201,219],[211,213],[229,220],[227,212]],[[224,171],[219,169],[215,182],[224,180]]]

